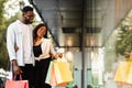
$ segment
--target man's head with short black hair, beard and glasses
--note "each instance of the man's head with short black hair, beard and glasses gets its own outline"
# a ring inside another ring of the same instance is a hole
[[[34,19],[33,8],[26,6],[22,9],[22,22],[25,24],[31,24]]]

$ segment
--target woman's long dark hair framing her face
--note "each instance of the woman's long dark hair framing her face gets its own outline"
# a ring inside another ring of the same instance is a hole
[[[45,26],[45,28],[46,28],[46,33],[45,33],[45,35],[44,35],[43,37],[46,37],[46,38],[47,38],[47,25],[44,24],[44,23],[40,23],[40,24],[36,25],[35,29],[33,30],[33,40],[36,38],[36,36],[37,36],[37,30],[38,30],[40,28],[42,28],[42,26]]]

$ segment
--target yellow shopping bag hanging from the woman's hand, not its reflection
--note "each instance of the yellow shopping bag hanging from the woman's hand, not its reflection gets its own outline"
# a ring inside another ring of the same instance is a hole
[[[57,84],[70,82],[74,80],[67,62],[54,62],[53,67]]]

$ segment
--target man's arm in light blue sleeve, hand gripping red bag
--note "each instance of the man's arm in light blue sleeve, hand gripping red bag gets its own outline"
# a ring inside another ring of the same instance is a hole
[[[15,32],[12,25],[8,28],[7,31],[7,48],[10,57],[10,62],[13,64],[14,74],[20,74],[21,69],[16,63],[16,52],[15,52]]]

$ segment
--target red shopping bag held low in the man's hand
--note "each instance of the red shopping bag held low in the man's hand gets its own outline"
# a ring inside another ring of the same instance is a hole
[[[7,79],[6,88],[29,88],[28,80],[14,80],[14,79]]]

